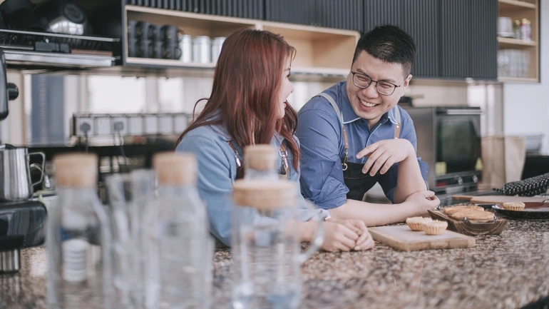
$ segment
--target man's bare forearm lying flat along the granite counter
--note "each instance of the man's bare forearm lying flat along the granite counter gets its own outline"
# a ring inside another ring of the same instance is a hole
[[[374,204],[362,201],[347,200],[342,206],[329,210],[330,216],[337,219],[356,219],[366,226],[384,226],[386,224],[406,221],[406,218],[417,216],[416,209],[408,203]]]

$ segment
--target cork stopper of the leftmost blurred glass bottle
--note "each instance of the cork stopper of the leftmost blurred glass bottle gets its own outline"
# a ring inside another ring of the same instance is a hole
[[[61,188],[97,186],[98,156],[94,153],[63,153],[53,157],[56,183]]]

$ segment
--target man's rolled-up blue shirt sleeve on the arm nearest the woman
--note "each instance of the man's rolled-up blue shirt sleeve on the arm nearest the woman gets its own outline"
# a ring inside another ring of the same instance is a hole
[[[331,209],[347,201],[339,158],[341,124],[326,111],[299,113],[296,135],[301,143],[301,192],[319,208]]]

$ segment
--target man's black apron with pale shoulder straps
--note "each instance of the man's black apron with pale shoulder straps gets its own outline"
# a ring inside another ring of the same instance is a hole
[[[322,96],[323,98],[326,98],[328,100],[328,102],[336,111],[339,121],[342,123],[342,135],[345,144],[345,154],[344,158],[342,158],[341,160],[343,169],[343,180],[345,186],[349,188],[347,198],[350,200],[363,201],[364,194],[366,194],[366,192],[369,191],[379,181],[381,174],[377,173],[375,176],[370,176],[369,173],[362,173],[362,168],[364,167],[364,164],[347,162],[349,154],[349,141],[347,140],[347,130],[345,130],[342,112],[339,111],[339,107],[337,106],[337,103],[334,98],[332,98],[332,96],[329,96],[329,94],[324,92],[319,93],[318,96]],[[401,119],[398,106],[394,107],[394,115],[396,118],[394,138],[399,138],[401,130]]]

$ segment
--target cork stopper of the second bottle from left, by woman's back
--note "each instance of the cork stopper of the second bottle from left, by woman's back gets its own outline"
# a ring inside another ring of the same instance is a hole
[[[156,153],[153,156],[153,168],[159,185],[193,186],[196,183],[197,161],[193,153]]]

